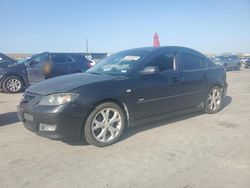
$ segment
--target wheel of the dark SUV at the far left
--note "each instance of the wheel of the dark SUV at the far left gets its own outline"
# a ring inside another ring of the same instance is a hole
[[[6,93],[19,93],[23,91],[24,83],[18,76],[9,76],[3,81],[3,90]]]

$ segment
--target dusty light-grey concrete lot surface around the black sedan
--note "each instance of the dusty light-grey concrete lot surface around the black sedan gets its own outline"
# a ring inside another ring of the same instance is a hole
[[[39,137],[0,93],[0,187],[250,187],[250,70],[227,73],[222,111],[128,129],[109,147]]]

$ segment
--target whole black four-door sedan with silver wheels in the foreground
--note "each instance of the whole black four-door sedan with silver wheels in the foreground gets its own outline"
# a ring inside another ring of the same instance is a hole
[[[216,113],[226,89],[224,68],[195,50],[139,48],[85,73],[29,87],[18,115],[38,135],[85,138],[102,147],[116,142],[126,126],[197,110]]]

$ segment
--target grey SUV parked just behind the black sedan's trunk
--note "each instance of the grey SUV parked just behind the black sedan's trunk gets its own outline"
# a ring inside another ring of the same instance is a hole
[[[241,67],[241,60],[236,55],[216,56],[213,62],[224,66],[226,70],[240,70]]]

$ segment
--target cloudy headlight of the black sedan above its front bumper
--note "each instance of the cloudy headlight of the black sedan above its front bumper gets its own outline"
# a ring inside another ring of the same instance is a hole
[[[40,102],[39,105],[61,105],[66,104],[74,99],[76,99],[79,94],[76,93],[58,93],[58,94],[51,94],[44,97]]]

